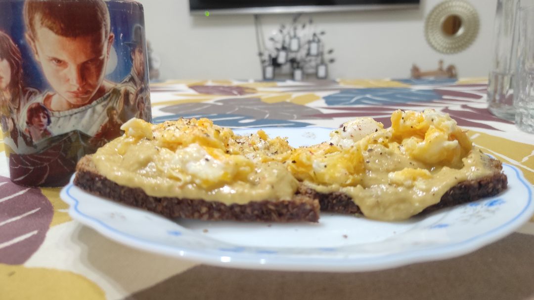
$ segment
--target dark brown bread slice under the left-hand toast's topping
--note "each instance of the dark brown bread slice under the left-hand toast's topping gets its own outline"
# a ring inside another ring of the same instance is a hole
[[[318,222],[319,220],[317,199],[301,194],[294,195],[291,200],[264,200],[230,205],[198,199],[149,196],[141,188],[122,186],[101,175],[90,155],[84,156],[76,165],[74,185],[104,198],[146,209],[168,218],[260,222]]]

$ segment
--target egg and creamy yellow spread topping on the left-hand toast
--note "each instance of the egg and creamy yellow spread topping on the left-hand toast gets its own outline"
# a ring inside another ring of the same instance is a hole
[[[292,149],[259,131],[234,135],[208,119],[153,125],[132,119],[124,135],[93,154],[98,172],[151,196],[227,204],[292,199],[299,185],[271,158]]]

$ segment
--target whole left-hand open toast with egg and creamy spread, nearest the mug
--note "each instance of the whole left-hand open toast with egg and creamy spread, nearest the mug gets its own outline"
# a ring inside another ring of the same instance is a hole
[[[269,158],[290,149],[284,139],[236,136],[207,119],[160,125],[132,119],[123,130],[78,162],[76,186],[169,218],[319,219],[318,201],[298,194],[300,183]],[[257,147],[262,150],[252,153]]]

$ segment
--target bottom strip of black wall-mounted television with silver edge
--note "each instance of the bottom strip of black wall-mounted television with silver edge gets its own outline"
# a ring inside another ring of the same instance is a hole
[[[189,0],[192,13],[299,13],[417,7],[420,0]]]

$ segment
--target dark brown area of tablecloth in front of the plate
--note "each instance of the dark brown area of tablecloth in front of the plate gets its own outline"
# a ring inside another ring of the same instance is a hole
[[[365,273],[197,266],[130,299],[534,299],[534,236],[514,233],[458,258]]]

